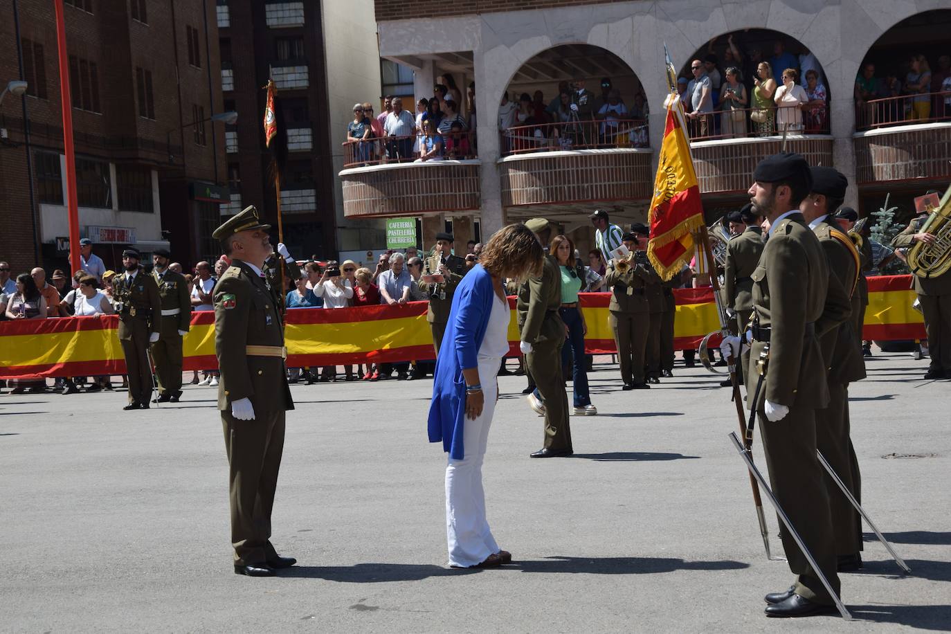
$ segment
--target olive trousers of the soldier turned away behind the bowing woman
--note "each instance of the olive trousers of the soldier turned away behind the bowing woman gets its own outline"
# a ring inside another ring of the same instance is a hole
[[[534,378],[535,387],[545,404],[545,443],[553,450],[572,449],[572,429],[568,417],[568,393],[561,374],[561,346],[564,339],[543,341],[532,345],[525,362]]]

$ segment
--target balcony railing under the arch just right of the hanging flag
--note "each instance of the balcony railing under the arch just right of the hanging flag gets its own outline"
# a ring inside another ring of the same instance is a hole
[[[828,134],[828,106],[736,108],[687,117],[690,141]]]

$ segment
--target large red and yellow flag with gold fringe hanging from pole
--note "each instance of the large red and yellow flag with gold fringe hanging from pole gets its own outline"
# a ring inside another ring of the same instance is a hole
[[[664,143],[649,212],[648,257],[664,279],[672,278],[693,256],[692,232],[704,226],[700,187],[679,107],[676,98],[668,100]]]

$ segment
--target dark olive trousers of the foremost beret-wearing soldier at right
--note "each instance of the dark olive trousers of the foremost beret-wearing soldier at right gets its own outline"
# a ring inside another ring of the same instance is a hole
[[[762,409],[758,418],[772,491],[792,527],[803,538],[805,548],[809,549],[825,578],[839,594],[832,510],[825,486],[825,470],[816,456],[816,413],[802,406],[793,406],[782,420],[768,420]],[[789,569],[797,575],[796,594],[809,601],[831,605],[832,598],[789,531],[783,528],[782,533]]]

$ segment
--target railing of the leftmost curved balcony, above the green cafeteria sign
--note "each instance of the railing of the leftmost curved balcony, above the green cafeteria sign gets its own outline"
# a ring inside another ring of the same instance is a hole
[[[446,159],[475,159],[473,132],[451,132],[445,135],[414,135],[384,137],[367,141],[348,141],[343,144],[343,166],[363,167],[383,163],[414,163],[444,161]],[[439,145],[436,152],[421,158],[426,148]]]

